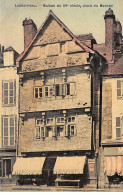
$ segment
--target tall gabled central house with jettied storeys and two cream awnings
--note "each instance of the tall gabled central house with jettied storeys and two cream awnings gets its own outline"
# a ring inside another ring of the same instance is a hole
[[[96,187],[103,64],[91,49],[96,41],[73,35],[52,11],[38,31],[31,19],[23,26],[13,175],[20,184]]]

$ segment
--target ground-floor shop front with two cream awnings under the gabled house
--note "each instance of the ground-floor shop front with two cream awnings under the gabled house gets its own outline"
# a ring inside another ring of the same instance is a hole
[[[12,174],[18,185],[96,187],[95,167],[87,156],[17,157]]]

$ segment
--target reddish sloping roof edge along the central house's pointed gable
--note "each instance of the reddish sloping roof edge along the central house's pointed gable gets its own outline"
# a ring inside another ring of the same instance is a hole
[[[32,44],[34,43],[34,41],[36,40],[37,36],[39,35],[39,33],[43,30],[43,27],[45,26],[46,22],[50,19],[50,17],[53,17],[58,23],[59,25],[62,27],[62,29],[65,29],[65,31],[74,39],[74,41],[81,47],[83,48],[86,52],[90,52],[90,53],[95,53],[95,51],[93,51],[91,48],[89,48],[85,43],[82,43],[81,41],[79,41],[76,36],[65,26],[65,24],[52,12],[52,10],[49,11],[49,14],[46,18],[46,20],[44,21],[44,23],[42,24],[42,26],[39,28],[39,30],[37,31],[36,35],[34,36],[33,40],[30,42],[29,46],[21,53],[21,55],[18,57],[17,59],[17,66],[19,65],[20,60],[23,59],[23,57],[25,56],[25,54],[29,51],[29,49],[31,48]]]

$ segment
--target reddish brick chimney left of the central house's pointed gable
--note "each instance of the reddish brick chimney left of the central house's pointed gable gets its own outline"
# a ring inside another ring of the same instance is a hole
[[[35,34],[37,33],[37,26],[32,19],[25,19],[24,26],[24,49],[30,44]]]

